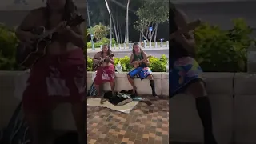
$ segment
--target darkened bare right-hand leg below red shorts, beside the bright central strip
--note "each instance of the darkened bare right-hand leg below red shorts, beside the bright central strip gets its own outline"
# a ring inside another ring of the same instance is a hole
[[[72,114],[78,131],[80,144],[86,143],[86,104],[78,102],[72,105]]]

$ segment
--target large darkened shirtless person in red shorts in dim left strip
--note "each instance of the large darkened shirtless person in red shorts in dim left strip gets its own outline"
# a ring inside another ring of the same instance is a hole
[[[46,0],[46,6],[31,10],[16,30],[17,38],[30,45],[36,38],[31,31],[38,26],[46,31],[57,28],[46,55],[31,67],[23,93],[22,106],[33,144],[53,144],[52,112],[61,103],[71,104],[78,140],[86,143],[85,22],[83,18],[76,22],[81,18],[72,0]]]

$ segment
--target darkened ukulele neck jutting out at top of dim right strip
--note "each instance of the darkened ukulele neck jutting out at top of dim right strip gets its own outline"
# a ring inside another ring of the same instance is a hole
[[[187,26],[186,27],[182,27],[182,29],[180,29],[180,30],[177,30],[177,31],[175,31],[173,34],[170,34],[170,40],[171,39],[174,39],[175,38],[175,36],[176,36],[176,34],[178,34],[178,33],[187,33],[187,32],[189,32],[190,30],[194,30],[196,27],[198,27],[200,24],[201,24],[202,22],[201,22],[201,20],[196,20],[196,21],[194,21],[194,22],[190,22],[190,23],[188,23],[187,24]]]

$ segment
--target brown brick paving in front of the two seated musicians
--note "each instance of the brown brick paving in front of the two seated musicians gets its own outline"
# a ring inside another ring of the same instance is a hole
[[[168,144],[169,102],[148,98],[151,106],[139,102],[130,114],[87,106],[88,143]]]

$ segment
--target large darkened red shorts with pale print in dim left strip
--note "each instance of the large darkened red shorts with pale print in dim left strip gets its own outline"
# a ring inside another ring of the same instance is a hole
[[[24,110],[51,110],[85,98],[86,61],[82,49],[46,55],[32,67],[23,93]]]

